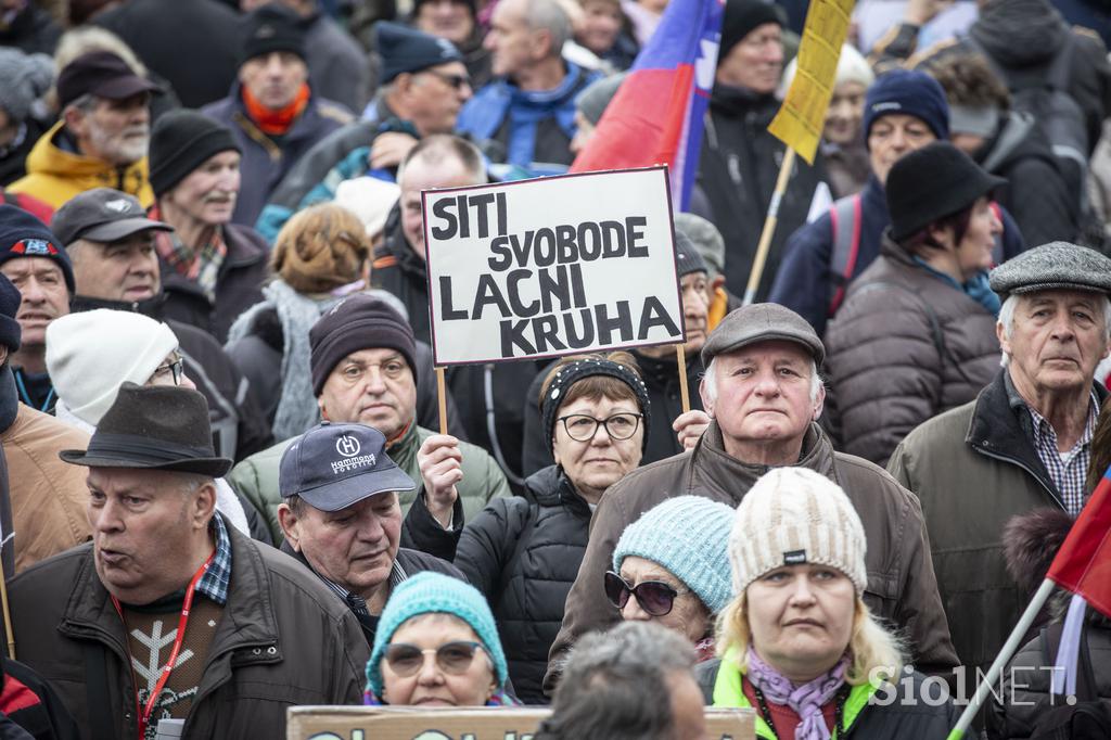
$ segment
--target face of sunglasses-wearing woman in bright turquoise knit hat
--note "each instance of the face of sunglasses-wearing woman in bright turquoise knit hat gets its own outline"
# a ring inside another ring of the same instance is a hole
[[[457,641],[480,642],[474,630],[456,617],[418,614],[398,628],[390,644],[434,651]],[[412,676],[398,676],[386,658],[381,671],[382,699],[394,707],[481,707],[497,689],[493,663],[482,649],[474,651],[470,667],[458,676],[440,668],[434,652],[423,653],[423,664]]]

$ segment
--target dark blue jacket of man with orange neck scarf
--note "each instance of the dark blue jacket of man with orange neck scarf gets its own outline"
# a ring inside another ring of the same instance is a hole
[[[313,97],[284,136],[271,138],[247,116],[238,82],[227,98],[206,106],[201,112],[231,129],[243,153],[239,164],[242,184],[231,220],[248,227],[254,226],[270,193],[297,160],[314,143],[353,119],[339,103]]]

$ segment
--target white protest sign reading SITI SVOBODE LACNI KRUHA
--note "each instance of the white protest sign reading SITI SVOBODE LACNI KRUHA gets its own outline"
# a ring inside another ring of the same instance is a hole
[[[438,367],[685,340],[668,170],[422,193]]]

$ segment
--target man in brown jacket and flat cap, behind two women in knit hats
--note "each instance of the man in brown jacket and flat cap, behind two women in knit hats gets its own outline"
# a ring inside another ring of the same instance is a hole
[[[844,489],[868,536],[864,601],[905,633],[919,670],[941,673],[957,664],[918,499],[881,468],[834,452],[814,423],[824,400],[817,372],[823,354],[810,324],[774,303],[738,309],[714,329],[702,350],[701,387],[712,420],[693,451],[634,470],[602,497],[552,646],[546,689],[559,680],[562,657],[580,636],[621,619],[605,599],[602,576],[627,526],[674,496],[735,507],[775,466],[815,470]]]

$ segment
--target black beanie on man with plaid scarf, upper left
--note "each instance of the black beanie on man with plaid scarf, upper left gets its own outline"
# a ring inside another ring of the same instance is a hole
[[[242,153],[231,130],[196,110],[164,113],[150,134],[150,187],[156,197],[221,151]]]

